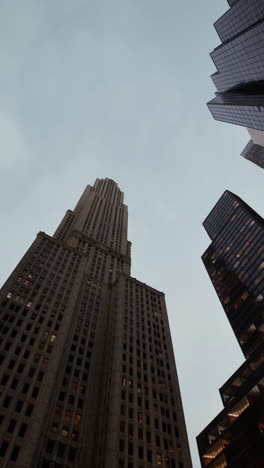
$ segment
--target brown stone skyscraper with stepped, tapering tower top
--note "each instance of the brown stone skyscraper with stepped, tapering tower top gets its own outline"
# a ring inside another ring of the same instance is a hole
[[[130,276],[127,216],[97,179],[1,289],[3,468],[191,468],[164,294]]]

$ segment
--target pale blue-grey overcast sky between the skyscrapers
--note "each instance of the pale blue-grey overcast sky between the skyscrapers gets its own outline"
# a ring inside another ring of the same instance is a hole
[[[166,293],[194,468],[195,437],[243,357],[200,260],[225,189],[261,215],[246,130],[215,122],[209,52],[225,0],[3,0],[1,283],[96,177],[129,207],[132,275]]]

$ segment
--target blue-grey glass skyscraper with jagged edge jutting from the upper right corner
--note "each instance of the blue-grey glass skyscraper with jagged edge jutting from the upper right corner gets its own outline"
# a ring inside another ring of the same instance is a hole
[[[221,40],[211,58],[216,97],[208,107],[216,120],[247,127],[255,145],[264,145],[264,3],[232,0],[230,9],[215,23]],[[257,140],[261,135],[263,143]],[[244,154],[243,154],[244,156]],[[259,164],[251,151],[247,158]]]

